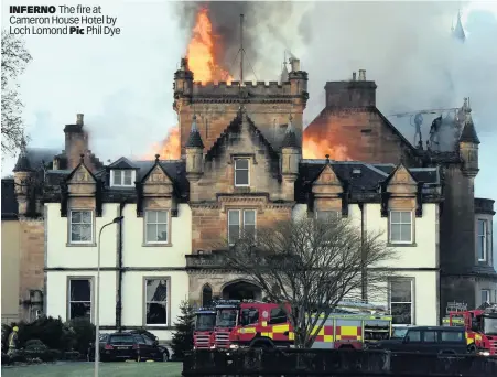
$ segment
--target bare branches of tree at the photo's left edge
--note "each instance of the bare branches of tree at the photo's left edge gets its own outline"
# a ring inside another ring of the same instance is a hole
[[[17,78],[32,60],[24,41],[2,31],[2,152],[14,154],[23,138],[22,108]]]

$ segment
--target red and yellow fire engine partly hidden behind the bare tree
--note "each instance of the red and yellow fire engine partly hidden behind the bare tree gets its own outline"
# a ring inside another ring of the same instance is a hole
[[[292,325],[278,303],[231,303],[216,310],[213,348],[289,347],[294,343]],[[365,342],[389,338],[391,322],[383,308],[344,300],[327,316],[313,347],[361,348]]]

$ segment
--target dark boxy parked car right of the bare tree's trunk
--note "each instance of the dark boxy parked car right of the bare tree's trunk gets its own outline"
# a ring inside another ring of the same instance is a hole
[[[379,341],[370,348],[436,354],[467,353],[466,332],[464,327],[399,327],[397,334],[392,335],[396,336],[386,341]]]

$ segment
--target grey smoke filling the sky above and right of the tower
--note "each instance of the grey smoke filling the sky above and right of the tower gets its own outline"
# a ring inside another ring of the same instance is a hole
[[[275,80],[284,51],[301,58],[310,75],[307,122],[324,107],[324,84],[361,68],[377,83],[386,115],[461,107],[471,97],[478,133],[497,118],[497,85],[490,84],[497,83],[497,19],[489,12],[469,13],[465,43],[451,35],[461,2],[185,2],[179,11],[186,31],[205,6],[220,41],[217,57],[235,77],[240,13],[253,68],[245,67],[247,79]],[[424,140],[437,116],[424,116]],[[391,120],[412,140],[409,119]]]

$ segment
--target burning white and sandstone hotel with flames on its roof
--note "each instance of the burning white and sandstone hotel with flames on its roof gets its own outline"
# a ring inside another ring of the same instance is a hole
[[[399,254],[386,268],[400,278],[381,298],[396,324],[435,325],[449,301],[495,297],[493,201],[473,194],[479,140],[468,103],[454,150],[414,148],[376,108],[377,86],[361,71],[326,83],[325,108],[303,131],[309,94],[300,61],[291,60],[281,83],[228,83],[209,57],[206,15],[197,15],[202,26],[174,73],[175,155],[104,165],[88,150],[83,116],[66,127],[65,151],[42,170],[21,151],[6,187],[15,191],[15,218],[35,218],[45,230],[36,245],[45,252],[39,283],[47,314],[93,319],[96,234],[115,223],[101,240],[109,331],[144,326],[169,338],[185,297],[198,305],[213,297],[261,299],[260,287],[226,270],[213,245],[227,239],[227,248],[245,229],[295,216],[334,215],[385,231]],[[374,293],[364,287],[360,295]]]

